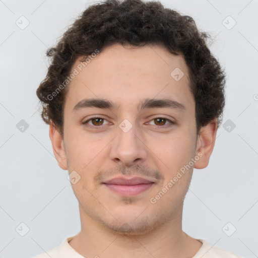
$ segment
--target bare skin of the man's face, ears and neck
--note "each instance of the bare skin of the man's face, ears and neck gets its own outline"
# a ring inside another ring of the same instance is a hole
[[[71,71],[78,64],[79,60]],[[179,81],[170,76],[175,68],[184,73]],[[73,112],[85,98],[105,98],[120,108]],[[176,100],[185,110],[159,107],[139,112],[137,105],[145,98]],[[104,120],[82,124],[93,115]],[[174,124],[155,119],[160,117]],[[119,127],[124,119],[132,124],[127,133]],[[72,184],[81,232],[69,244],[86,257],[194,256],[202,243],[182,231],[183,200],[193,167],[208,166],[216,133],[216,119],[196,132],[195,100],[181,55],[158,45],[115,44],[100,52],[69,85],[63,138],[54,124],[49,127],[59,166],[81,176]],[[150,199],[198,153],[202,157],[152,204]],[[141,176],[154,184],[137,196],[122,197],[102,184],[117,176]]]

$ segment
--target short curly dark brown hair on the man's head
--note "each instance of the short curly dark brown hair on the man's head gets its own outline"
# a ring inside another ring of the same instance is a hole
[[[221,124],[225,105],[225,72],[207,46],[211,36],[200,32],[190,16],[183,16],[160,2],[106,0],[89,6],[47,50],[51,57],[45,79],[37,89],[41,117],[52,122],[63,136],[63,105],[68,87],[55,94],[70,75],[78,57],[86,57],[119,43],[134,46],[163,45],[181,54],[187,64],[190,91],[196,105],[197,133],[214,118]],[[51,95],[53,96],[53,94]]]

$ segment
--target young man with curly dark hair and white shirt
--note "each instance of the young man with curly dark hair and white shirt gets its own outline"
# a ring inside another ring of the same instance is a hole
[[[193,168],[208,166],[225,104],[207,36],[159,2],[108,0],[48,50],[37,96],[81,232],[37,258],[239,257],[182,231]]]

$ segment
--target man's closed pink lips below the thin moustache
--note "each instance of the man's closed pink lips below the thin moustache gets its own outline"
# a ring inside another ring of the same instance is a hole
[[[121,196],[132,197],[151,188],[154,182],[142,177],[134,177],[131,179],[116,177],[103,184],[108,187],[108,189]]]

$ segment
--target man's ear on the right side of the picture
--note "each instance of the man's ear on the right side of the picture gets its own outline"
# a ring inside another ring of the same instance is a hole
[[[196,155],[198,155],[200,159],[196,161],[194,168],[202,169],[208,166],[215,145],[217,130],[217,119],[214,119],[207,125],[201,127],[196,144]]]

